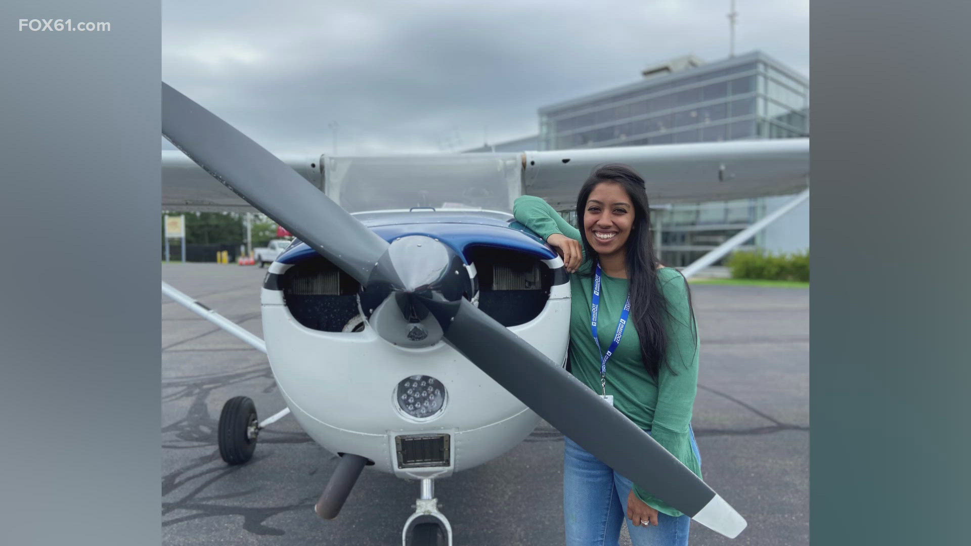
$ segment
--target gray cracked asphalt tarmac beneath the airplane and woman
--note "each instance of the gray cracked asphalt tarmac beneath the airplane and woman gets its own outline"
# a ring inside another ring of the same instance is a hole
[[[262,337],[265,270],[162,265],[162,280]],[[809,544],[809,290],[693,285],[701,370],[692,421],[705,481],[749,522],[729,540],[691,524],[692,546]],[[361,474],[337,519],[313,506],[336,457],[292,417],[263,430],[253,459],[227,466],[216,427],[245,394],[260,419],[283,409],[266,357],[161,296],[162,542],[397,545],[418,482]],[[349,393],[352,395],[352,393]],[[519,446],[437,480],[454,544],[562,545],[563,437],[541,423]],[[629,544],[626,529],[620,544]]]

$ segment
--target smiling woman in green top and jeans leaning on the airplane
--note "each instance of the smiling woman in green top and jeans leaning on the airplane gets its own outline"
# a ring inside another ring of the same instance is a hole
[[[516,220],[563,257],[572,274],[573,375],[701,476],[690,427],[698,378],[690,292],[681,273],[654,258],[644,180],[626,165],[594,170],[577,197],[581,230],[539,197],[519,197],[514,212]],[[628,298],[625,323],[634,327],[619,322]],[[594,300],[597,313],[591,315]],[[619,343],[604,363],[602,355],[611,350],[617,334]],[[569,546],[617,544],[624,515],[631,520],[628,529],[635,546],[687,544],[686,515],[631,484],[569,438],[563,515]]]

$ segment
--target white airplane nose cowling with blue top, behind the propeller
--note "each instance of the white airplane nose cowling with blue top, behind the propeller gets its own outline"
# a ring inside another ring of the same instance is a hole
[[[493,318],[501,315],[497,320],[510,323],[510,330],[556,365],[565,362],[570,289],[562,260],[535,236],[511,227],[510,215],[362,216],[388,240],[440,237],[478,277],[469,299],[486,312],[495,309]],[[359,455],[403,478],[445,477],[502,455],[536,427],[540,418],[534,412],[447,343],[405,348],[385,341],[367,324],[348,281],[338,289],[338,273],[315,273],[310,259],[322,258],[296,244],[271,265],[261,291],[263,333],[286,405],[326,450]],[[329,290],[329,295],[310,293],[314,290]],[[308,315],[307,309],[326,305],[331,307],[325,310],[343,305],[350,311],[330,325]],[[404,411],[399,383],[413,376],[432,377],[444,386],[444,404],[434,415],[417,418]],[[422,436],[444,438],[446,457],[405,461],[415,456],[402,453],[402,439]]]

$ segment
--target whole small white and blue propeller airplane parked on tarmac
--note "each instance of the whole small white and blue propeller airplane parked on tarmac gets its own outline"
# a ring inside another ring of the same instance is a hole
[[[283,394],[286,408],[262,421],[249,397],[225,403],[223,461],[249,461],[260,430],[292,414],[341,458],[315,506],[320,517],[336,517],[372,466],[419,480],[402,544],[451,545],[434,480],[502,455],[543,418],[702,525],[728,537],[745,528],[720,495],[564,369],[569,275],[509,211],[526,191],[570,206],[603,162],[647,175],[653,203],[801,190],[791,208],[808,196],[808,139],[278,158],[165,84],[162,133],[180,151],[163,152],[163,208],[252,207],[296,237],[263,282],[265,342],[162,283],[265,353]]]

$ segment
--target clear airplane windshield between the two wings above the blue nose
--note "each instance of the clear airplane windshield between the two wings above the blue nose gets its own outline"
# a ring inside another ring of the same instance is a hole
[[[485,209],[510,212],[519,196],[519,154],[328,157],[327,195],[348,212]]]

